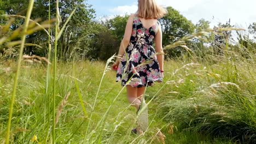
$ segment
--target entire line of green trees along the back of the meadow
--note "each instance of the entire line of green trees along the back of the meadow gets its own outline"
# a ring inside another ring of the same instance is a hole
[[[10,17],[15,17],[15,21],[12,22],[9,31],[11,32],[18,29],[24,23],[24,19],[18,17],[18,15],[26,15],[27,5],[27,0],[0,0],[0,26],[10,22]],[[61,16],[60,27],[63,26],[72,11],[75,9],[74,15],[71,17],[71,20],[68,22],[68,25],[59,40],[58,53],[62,60],[67,60],[72,57],[106,60],[110,56],[114,55],[114,53],[118,52],[129,15],[117,15],[112,19],[97,21],[95,19],[95,10],[92,9],[91,6],[92,5],[88,4],[87,0],[59,0],[59,11]],[[167,7],[167,11],[168,13],[159,20],[162,27],[163,46],[176,43],[187,35],[200,33],[210,28],[210,21],[205,19],[199,20],[199,22],[194,25],[179,13],[178,10],[172,7]],[[54,0],[51,0],[50,3],[49,0],[34,1],[31,19],[39,22],[45,21],[49,19],[49,13],[50,19],[55,19],[56,3]],[[229,41],[232,38],[232,35],[230,31],[219,32],[220,27],[226,28],[232,27],[232,25],[230,22],[226,22],[224,24],[219,23],[219,25],[214,27],[214,31],[219,34],[203,35],[202,37],[207,40],[207,42],[195,38],[190,42],[187,41],[187,46],[193,51],[203,51],[203,55],[200,55],[200,57],[206,55],[205,51],[210,50],[208,49],[209,47],[214,47],[212,49],[215,54],[223,55],[226,41]],[[249,33],[251,33],[254,39],[256,39],[256,22],[251,23],[248,29]],[[50,34],[54,38],[54,28],[51,29]],[[245,41],[243,40],[245,38],[247,37],[242,37],[241,35],[240,40],[238,41]],[[26,54],[34,54],[38,56],[45,56],[48,54],[48,35],[45,32],[39,31],[27,35],[26,40],[27,43],[33,43],[41,46],[40,48],[35,46],[26,46]],[[205,49],[205,45],[207,45],[207,50]],[[3,53],[3,47],[4,45],[0,46],[0,54]],[[4,47],[4,49],[8,49],[8,47]],[[167,50],[166,54],[167,57],[173,58],[182,56],[185,52],[186,51],[184,51],[183,47],[176,47],[175,49]]]

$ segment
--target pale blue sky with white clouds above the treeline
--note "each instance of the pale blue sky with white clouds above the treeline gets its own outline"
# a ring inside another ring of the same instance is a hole
[[[247,28],[256,22],[256,0],[156,0],[163,7],[171,6],[193,23],[200,19],[211,22],[211,26],[229,19],[239,28]],[[96,10],[96,17],[113,17],[135,13],[137,0],[88,0]]]

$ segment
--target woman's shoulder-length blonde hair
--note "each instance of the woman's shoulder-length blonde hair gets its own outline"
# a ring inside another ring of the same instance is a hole
[[[155,0],[138,0],[136,14],[144,19],[160,19],[167,14],[167,10],[158,5]]]

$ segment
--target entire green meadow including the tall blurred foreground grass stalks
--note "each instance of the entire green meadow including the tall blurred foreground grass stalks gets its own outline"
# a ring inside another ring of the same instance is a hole
[[[8,47],[0,61],[0,143],[256,143],[255,43],[240,37],[229,44],[230,31],[241,29],[206,28],[167,45],[184,53],[166,59],[164,82],[147,88],[150,124],[135,135],[136,110],[110,69],[115,56],[81,58],[75,47],[65,61],[59,40],[75,9],[61,23],[59,9],[50,20],[49,4],[49,21],[37,23],[33,4],[18,16],[22,26],[10,31],[10,19],[0,27],[1,51]],[[26,46],[40,47],[26,44],[40,30],[47,58],[24,55]],[[217,46],[203,45],[212,34]]]

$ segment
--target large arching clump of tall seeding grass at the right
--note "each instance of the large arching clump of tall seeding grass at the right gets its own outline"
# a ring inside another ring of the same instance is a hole
[[[227,52],[229,58],[216,64],[203,62],[170,81],[173,88],[158,99],[159,117],[179,130],[255,143],[255,57],[232,55]]]

